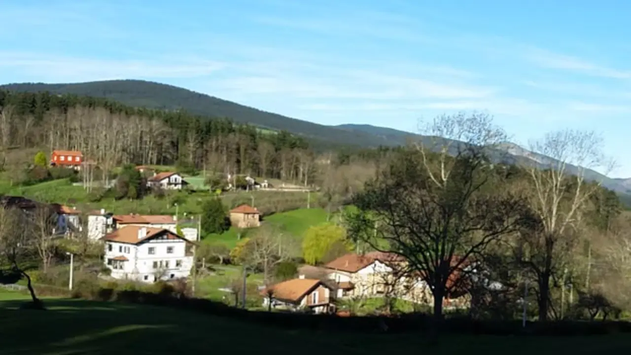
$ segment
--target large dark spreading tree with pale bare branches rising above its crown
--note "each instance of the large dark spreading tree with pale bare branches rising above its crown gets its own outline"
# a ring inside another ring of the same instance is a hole
[[[351,236],[405,258],[408,272],[432,292],[440,322],[443,300],[457,284],[454,275],[528,222],[529,210],[497,188],[501,174],[489,155],[505,134],[489,116],[440,116],[426,132],[435,139],[394,157],[355,195],[360,211],[346,221]]]

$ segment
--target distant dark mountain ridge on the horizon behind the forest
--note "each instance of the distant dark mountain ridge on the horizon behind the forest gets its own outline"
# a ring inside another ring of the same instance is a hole
[[[380,145],[395,147],[408,140],[421,140],[429,143],[432,138],[398,129],[372,126],[370,124],[340,124],[326,126],[261,111],[228,100],[222,100],[185,88],[143,80],[109,80],[87,83],[14,83],[0,85],[0,89],[18,92],[48,91],[56,94],[85,95],[103,97],[134,107],[150,109],[184,109],[192,114],[207,117],[228,117],[237,123],[248,123],[261,128],[286,130],[295,135],[305,136],[331,145],[353,145],[371,148]],[[509,153],[509,164],[526,162],[538,167],[554,164],[550,157],[530,152],[514,143],[500,146],[502,152]],[[503,157],[505,159],[505,157]],[[525,159],[525,160],[524,160]],[[570,165],[568,171],[576,173],[578,168]],[[621,194],[631,193],[631,179],[611,179],[596,171],[585,171],[585,177],[600,181],[603,186]],[[631,196],[629,196],[631,198]]]

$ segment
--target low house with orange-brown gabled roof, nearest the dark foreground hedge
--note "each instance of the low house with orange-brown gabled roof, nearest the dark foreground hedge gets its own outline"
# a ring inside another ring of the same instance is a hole
[[[263,306],[285,310],[309,309],[314,313],[334,311],[331,288],[317,279],[292,279],[266,287],[261,291]]]

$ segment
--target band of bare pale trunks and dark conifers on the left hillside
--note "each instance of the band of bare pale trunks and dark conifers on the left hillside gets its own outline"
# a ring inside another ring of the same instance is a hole
[[[93,97],[0,91],[0,112],[2,152],[81,150],[104,171],[160,164],[308,181],[315,158],[307,141],[286,131]]]

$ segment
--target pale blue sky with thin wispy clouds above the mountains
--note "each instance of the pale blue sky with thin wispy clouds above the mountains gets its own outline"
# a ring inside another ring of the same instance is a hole
[[[0,82],[160,81],[322,124],[487,111],[602,133],[631,177],[625,1],[5,0]]]

